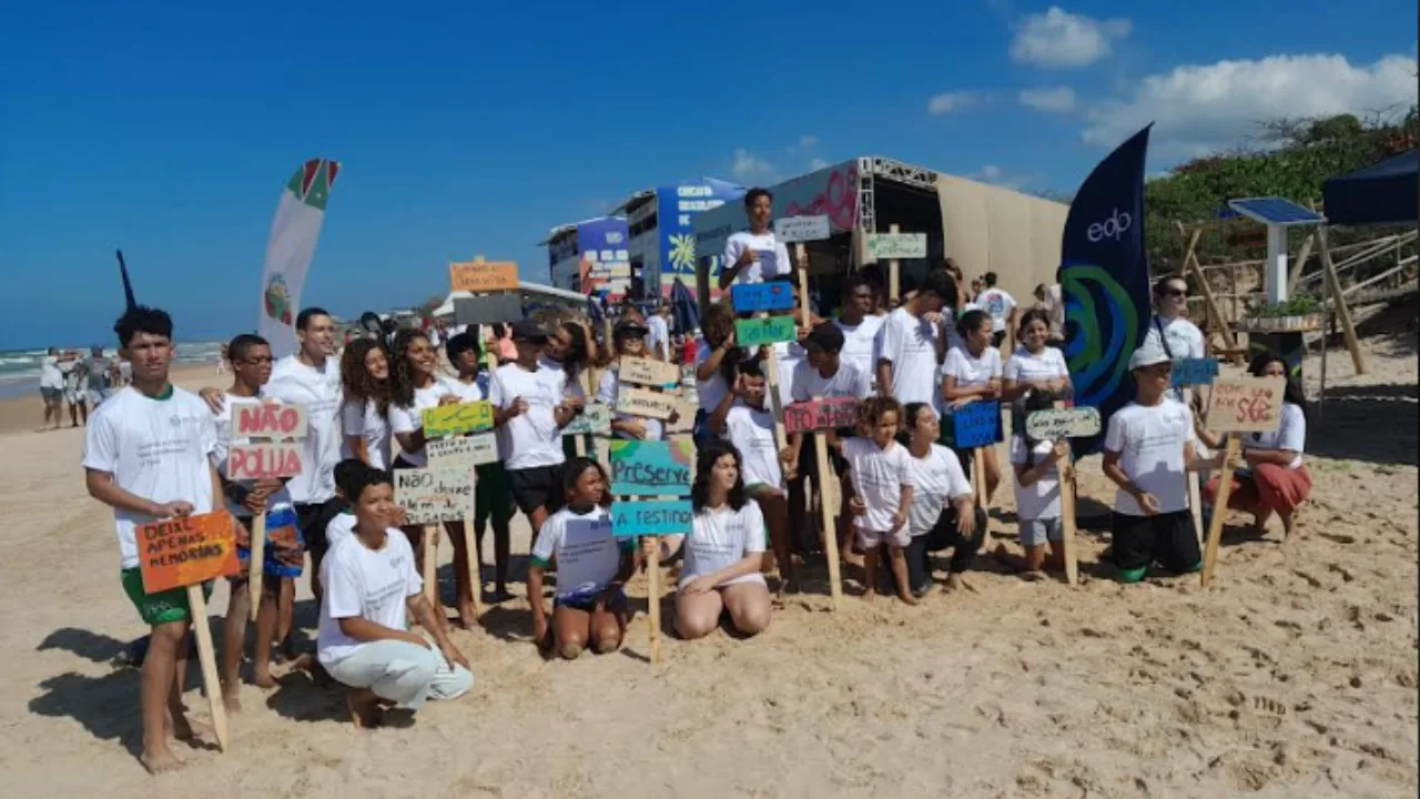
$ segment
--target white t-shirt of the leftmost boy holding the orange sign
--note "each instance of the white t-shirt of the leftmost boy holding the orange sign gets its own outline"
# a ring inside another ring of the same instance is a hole
[[[217,428],[196,394],[173,388],[166,400],[151,400],[136,388],[121,388],[89,417],[84,434],[84,468],[106,472],[114,485],[152,502],[190,502],[193,513],[210,513],[212,455]],[[114,509],[119,564],[138,566],[139,526],[153,516]]]

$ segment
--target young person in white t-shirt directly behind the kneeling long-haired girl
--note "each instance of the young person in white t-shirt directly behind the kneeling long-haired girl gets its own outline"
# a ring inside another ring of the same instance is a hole
[[[790,559],[788,479],[794,476],[790,448],[778,451],[774,414],[767,400],[767,381],[760,371],[761,361],[750,358],[740,364],[734,388],[720,400],[710,414],[707,427],[713,435],[727,438],[740,451],[744,490],[750,495],[770,525],[772,559],[765,556],[764,570],[780,569],[778,593],[798,591],[794,563]]]

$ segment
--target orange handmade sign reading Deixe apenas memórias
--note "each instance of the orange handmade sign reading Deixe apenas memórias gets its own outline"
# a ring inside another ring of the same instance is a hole
[[[163,519],[138,527],[138,566],[143,591],[196,586],[236,574],[237,542],[226,510],[186,519]]]

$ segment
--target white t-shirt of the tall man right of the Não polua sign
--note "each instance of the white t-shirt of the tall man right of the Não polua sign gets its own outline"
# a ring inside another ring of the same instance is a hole
[[[341,368],[335,358],[325,358],[321,368],[308,367],[287,355],[271,367],[271,380],[261,391],[266,397],[305,405],[310,418],[304,442],[305,469],[285,486],[295,502],[325,502],[335,496],[335,463],[345,444],[341,432]]]

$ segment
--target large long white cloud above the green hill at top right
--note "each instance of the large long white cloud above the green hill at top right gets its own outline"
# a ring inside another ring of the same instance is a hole
[[[1088,114],[1086,144],[1115,146],[1153,121],[1156,152],[1196,158],[1231,149],[1278,118],[1376,114],[1416,102],[1416,60],[1386,55],[1352,65],[1343,55],[1269,55],[1149,75],[1133,97]]]

